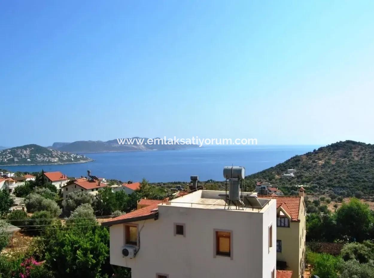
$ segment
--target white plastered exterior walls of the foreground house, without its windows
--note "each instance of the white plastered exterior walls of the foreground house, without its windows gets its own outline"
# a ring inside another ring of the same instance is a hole
[[[156,273],[169,278],[271,277],[276,265],[275,200],[260,213],[168,205],[158,209],[158,220],[134,222],[141,229],[134,259],[121,253],[125,224],[110,227],[110,263],[131,268],[132,278],[154,278]],[[174,223],[185,224],[185,237],[174,236]],[[273,248],[269,251],[270,223]],[[232,231],[232,259],[214,256],[215,229]]]

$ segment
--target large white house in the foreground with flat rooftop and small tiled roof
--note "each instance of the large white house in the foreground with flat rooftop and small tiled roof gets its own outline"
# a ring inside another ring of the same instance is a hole
[[[154,201],[102,223],[110,263],[132,278],[275,278],[276,201],[244,192],[244,205],[229,208],[223,193]]]

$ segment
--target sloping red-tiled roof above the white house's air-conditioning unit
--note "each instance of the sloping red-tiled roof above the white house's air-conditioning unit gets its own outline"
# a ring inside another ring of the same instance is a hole
[[[151,204],[147,207],[143,207],[142,209],[133,210],[129,213],[114,217],[110,221],[101,223],[101,225],[111,226],[115,224],[135,222],[135,221],[140,221],[140,220],[145,220],[145,219],[152,219],[152,218],[156,219],[158,215],[157,205],[161,203],[162,201],[158,201],[157,203],[154,202],[154,204]]]

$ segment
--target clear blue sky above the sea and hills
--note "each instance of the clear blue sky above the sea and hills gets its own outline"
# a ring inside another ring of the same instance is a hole
[[[374,1],[1,1],[0,145],[374,143]]]

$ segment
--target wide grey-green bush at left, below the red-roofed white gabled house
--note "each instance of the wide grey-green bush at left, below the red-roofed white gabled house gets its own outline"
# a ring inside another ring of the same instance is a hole
[[[53,217],[61,214],[61,209],[55,201],[44,198],[39,194],[31,193],[28,195],[25,205],[28,212],[49,211]]]

